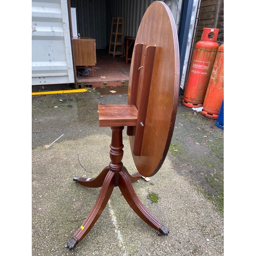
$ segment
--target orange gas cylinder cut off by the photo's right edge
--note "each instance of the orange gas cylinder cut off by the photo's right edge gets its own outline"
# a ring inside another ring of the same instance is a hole
[[[201,114],[217,119],[224,99],[224,45],[221,45],[214,62]]]

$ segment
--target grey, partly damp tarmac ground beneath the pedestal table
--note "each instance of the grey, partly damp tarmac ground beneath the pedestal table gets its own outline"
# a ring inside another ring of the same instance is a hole
[[[87,236],[74,250],[66,248],[100,191],[73,177],[94,178],[110,162],[111,129],[99,127],[98,104],[127,103],[127,87],[89,91],[32,96],[32,255],[223,255],[224,131],[182,105],[182,94],[162,167],[150,181],[133,183],[168,236],[145,224],[115,187]],[[125,131],[122,162],[133,174]]]

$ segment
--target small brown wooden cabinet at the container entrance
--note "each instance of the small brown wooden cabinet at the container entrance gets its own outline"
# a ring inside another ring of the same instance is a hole
[[[73,39],[73,41],[76,67],[91,66],[92,76],[94,76],[93,66],[96,65],[95,39],[90,37],[80,37],[79,39]]]

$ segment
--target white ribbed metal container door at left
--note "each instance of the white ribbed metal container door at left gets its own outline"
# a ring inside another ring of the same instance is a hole
[[[67,0],[32,0],[32,86],[74,82]]]

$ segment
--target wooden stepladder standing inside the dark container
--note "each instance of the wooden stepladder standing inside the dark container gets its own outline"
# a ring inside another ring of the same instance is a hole
[[[123,17],[112,18],[109,54],[123,56]]]

